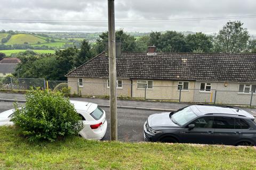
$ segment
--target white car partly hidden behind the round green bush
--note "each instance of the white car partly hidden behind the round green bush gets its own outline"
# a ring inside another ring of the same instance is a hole
[[[70,100],[70,103],[75,106],[84,123],[84,128],[79,134],[85,139],[102,139],[107,131],[105,111],[94,103],[76,100]],[[10,109],[0,113],[0,125],[13,125],[13,122],[10,122],[13,112],[14,109]]]

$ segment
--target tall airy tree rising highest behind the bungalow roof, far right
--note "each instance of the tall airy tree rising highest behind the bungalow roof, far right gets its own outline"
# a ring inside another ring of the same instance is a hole
[[[222,53],[241,53],[249,41],[249,32],[240,21],[227,22],[215,37],[214,48]]]

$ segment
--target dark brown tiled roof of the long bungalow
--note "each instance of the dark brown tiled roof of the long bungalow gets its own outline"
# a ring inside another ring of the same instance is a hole
[[[256,82],[256,54],[122,52],[117,78]],[[69,72],[67,77],[108,77],[105,53]]]

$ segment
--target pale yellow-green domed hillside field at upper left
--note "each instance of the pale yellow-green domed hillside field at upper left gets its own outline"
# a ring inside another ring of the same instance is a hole
[[[38,42],[47,43],[46,40],[35,37],[34,35],[19,33],[12,35],[5,45],[24,44],[25,42],[28,44],[37,44]]]

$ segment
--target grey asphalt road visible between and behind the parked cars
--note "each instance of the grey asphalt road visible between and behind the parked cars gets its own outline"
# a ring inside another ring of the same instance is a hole
[[[21,104],[24,105],[24,104]],[[0,113],[13,108],[13,103],[0,102]],[[106,111],[108,129],[103,140],[110,140],[110,115],[109,108],[102,107]],[[118,111],[118,140],[119,141],[143,141],[143,124],[147,117],[157,111],[143,111],[134,109],[117,109]]]

